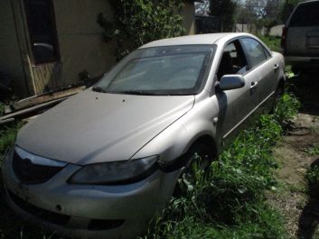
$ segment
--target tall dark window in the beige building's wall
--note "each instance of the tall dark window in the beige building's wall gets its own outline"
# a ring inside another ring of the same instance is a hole
[[[52,0],[24,0],[35,64],[60,60]]]

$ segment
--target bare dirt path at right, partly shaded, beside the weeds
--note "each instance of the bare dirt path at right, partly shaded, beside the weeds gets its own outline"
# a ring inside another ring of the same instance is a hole
[[[277,192],[268,196],[286,220],[291,239],[319,239],[319,198],[308,195],[306,171],[319,163],[319,73],[288,79],[302,103],[295,126],[277,143],[274,154],[280,162]]]

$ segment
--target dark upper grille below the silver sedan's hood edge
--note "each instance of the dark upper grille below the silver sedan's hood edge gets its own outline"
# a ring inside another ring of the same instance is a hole
[[[16,177],[26,184],[42,183],[51,179],[62,167],[34,164],[29,159],[22,159],[14,152],[13,169]]]

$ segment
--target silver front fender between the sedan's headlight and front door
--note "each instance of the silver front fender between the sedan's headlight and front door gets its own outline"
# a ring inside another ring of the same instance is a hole
[[[218,115],[218,105],[215,97],[200,100],[187,114],[146,143],[132,159],[157,154],[164,164],[172,164],[203,136],[210,137],[211,142],[217,142],[216,125],[213,123],[216,115]],[[216,144],[214,146],[216,148]]]

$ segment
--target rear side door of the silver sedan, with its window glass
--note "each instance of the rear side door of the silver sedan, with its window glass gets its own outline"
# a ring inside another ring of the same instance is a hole
[[[249,61],[251,75],[254,78],[255,94],[258,95],[256,109],[269,110],[270,98],[276,89],[279,74],[279,63],[267,49],[257,40],[249,37],[240,39]]]

